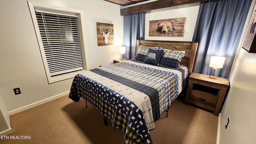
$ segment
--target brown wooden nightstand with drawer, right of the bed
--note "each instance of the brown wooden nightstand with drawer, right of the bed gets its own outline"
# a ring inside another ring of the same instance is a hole
[[[188,89],[184,103],[194,104],[218,116],[229,88],[227,78],[211,79],[209,75],[193,72],[188,77]]]

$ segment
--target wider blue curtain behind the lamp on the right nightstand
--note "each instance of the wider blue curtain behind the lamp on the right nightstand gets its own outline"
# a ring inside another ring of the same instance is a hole
[[[209,74],[211,56],[226,57],[219,75],[228,78],[252,0],[201,2],[193,41],[198,41],[193,72]]]

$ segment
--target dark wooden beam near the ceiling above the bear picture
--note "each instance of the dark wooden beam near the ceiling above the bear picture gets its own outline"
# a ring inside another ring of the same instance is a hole
[[[157,0],[154,2],[148,2],[145,4],[140,4],[137,6],[131,6],[128,8],[122,8],[120,9],[121,16],[124,16],[126,14],[134,14],[137,12],[146,12],[148,10],[156,10],[159,8],[167,8],[171,6],[179,6],[183,4],[191,4],[194,2],[204,2],[209,0]]]

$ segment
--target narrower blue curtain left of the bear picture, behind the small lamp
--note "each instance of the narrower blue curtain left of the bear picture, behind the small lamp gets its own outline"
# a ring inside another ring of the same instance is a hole
[[[128,14],[124,16],[123,46],[126,47],[125,59],[134,58],[136,55],[136,40],[144,40],[145,12]]]

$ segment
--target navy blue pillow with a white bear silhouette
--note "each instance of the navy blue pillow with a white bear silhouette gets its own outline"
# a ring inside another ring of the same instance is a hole
[[[151,48],[148,49],[148,54],[144,60],[147,64],[154,64],[158,65],[159,60],[163,54],[164,50],[152,50]]]

